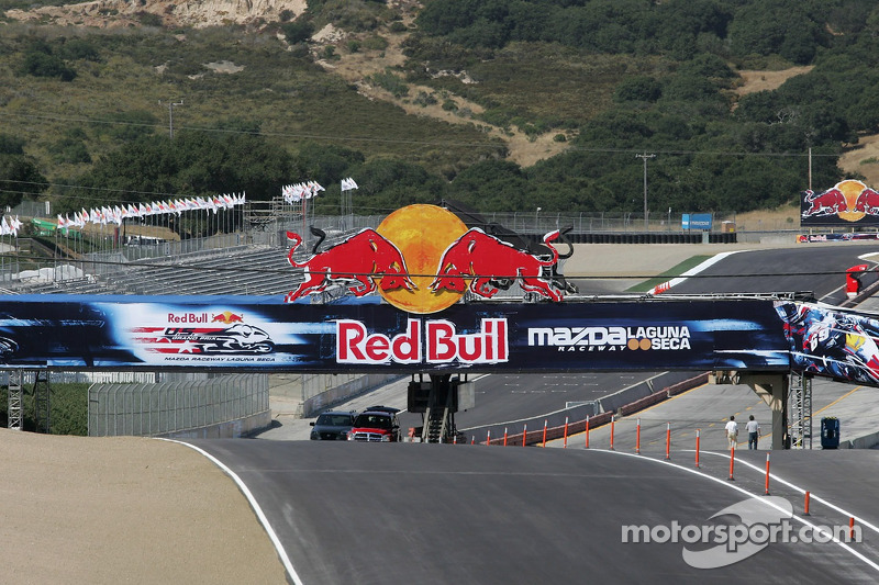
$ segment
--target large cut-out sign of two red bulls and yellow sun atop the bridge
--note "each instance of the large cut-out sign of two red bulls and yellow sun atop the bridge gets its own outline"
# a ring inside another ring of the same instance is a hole
[[[288,260],[304,281],[288,302],[344,286],[355,296],[377,292],[387,303],[413,314],[445,311],[465,292],[491,299],[518,283],[543,299],[564,300],[557,273],[559,232],[543,237],[545,254],[521,249],[479,227],[469,228],[454,213],[435,205],[409,205],[391,213],[376,229],[364,229],[341,244],[294,254],[302,238],[288,233]]]

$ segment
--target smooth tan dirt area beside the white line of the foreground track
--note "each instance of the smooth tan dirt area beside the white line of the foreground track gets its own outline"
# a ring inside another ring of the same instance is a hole
[[[235,484],[182,445],[0,429],[0,561],[16,583],[286,583]]]

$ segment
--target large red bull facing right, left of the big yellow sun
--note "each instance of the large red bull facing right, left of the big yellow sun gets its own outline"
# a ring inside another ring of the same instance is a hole
[[[375,229],[366,228],[320,252],[315,246],[311,258],[304,262],[293,260],[293,252],[302,244],[302,238],[292,232],[288,232],[287,237],[291,243],[287,259],[293,268],[302,269],[305,280],[285,296],[285,302],[291,303],[305,294],[321,292],[331,283],[344,284],[356,296],[374,292],[374,279],[380,279],[382,291],[412,291],[416,288],[409,278],[403,255]]]

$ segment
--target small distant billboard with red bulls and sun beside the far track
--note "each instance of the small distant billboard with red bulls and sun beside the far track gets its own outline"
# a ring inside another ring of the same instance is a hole
[[[879,225],[879,192],[856,180],[845,180],[822,192],[806,190],[800,198],[803,226]]]

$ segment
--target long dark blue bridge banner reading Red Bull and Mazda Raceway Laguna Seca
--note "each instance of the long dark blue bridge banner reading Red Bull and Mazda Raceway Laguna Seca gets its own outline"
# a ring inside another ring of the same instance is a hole
[[[788,370],[763,300],[455,304],[416,315],[376,297],[16,296],[5,368],[504,372]]]

